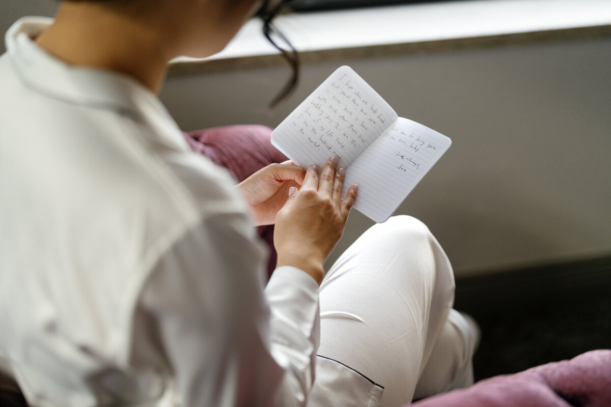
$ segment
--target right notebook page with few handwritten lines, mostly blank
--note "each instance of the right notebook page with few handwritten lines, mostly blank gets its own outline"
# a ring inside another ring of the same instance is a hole
[[[397,118],[346,168],[343,196],[350,185],[359,184],[354,208],[375,222],[386,222],[450,145],[445,135]]]

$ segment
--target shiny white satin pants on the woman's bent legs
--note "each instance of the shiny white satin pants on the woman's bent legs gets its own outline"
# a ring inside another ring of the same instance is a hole
[[[368,229],[320,286],[309,406],[395,407],[471,384],[478,329],[452,309],[454,287],[422,222],[402,215]]]

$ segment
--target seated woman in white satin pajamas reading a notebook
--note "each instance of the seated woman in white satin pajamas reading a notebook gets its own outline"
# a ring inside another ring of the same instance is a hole
[[[374,226],[323,281],[357,196],[337,159],[236,188],[156,98],[170,59],[220,51],[257,7],[67,0],[7,33],[0,369],[31,405],[395,406],[472,380],[426,226]]]

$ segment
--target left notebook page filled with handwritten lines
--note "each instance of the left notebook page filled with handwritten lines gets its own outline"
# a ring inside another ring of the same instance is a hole
[[[302,167],[329,157],[347,167],[397,118],[350,67],[334,71],[272,132],[272,144]]]

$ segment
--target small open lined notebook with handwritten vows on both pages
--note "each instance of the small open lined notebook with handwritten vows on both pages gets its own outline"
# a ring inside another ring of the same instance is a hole
[[[359,184],[354,208],[381,223],[397,210],[452,140],[398,117],[350,67],[340,67],[274,129],[271,142],[304,168],[335,155],[346,169],[343,196]]]

